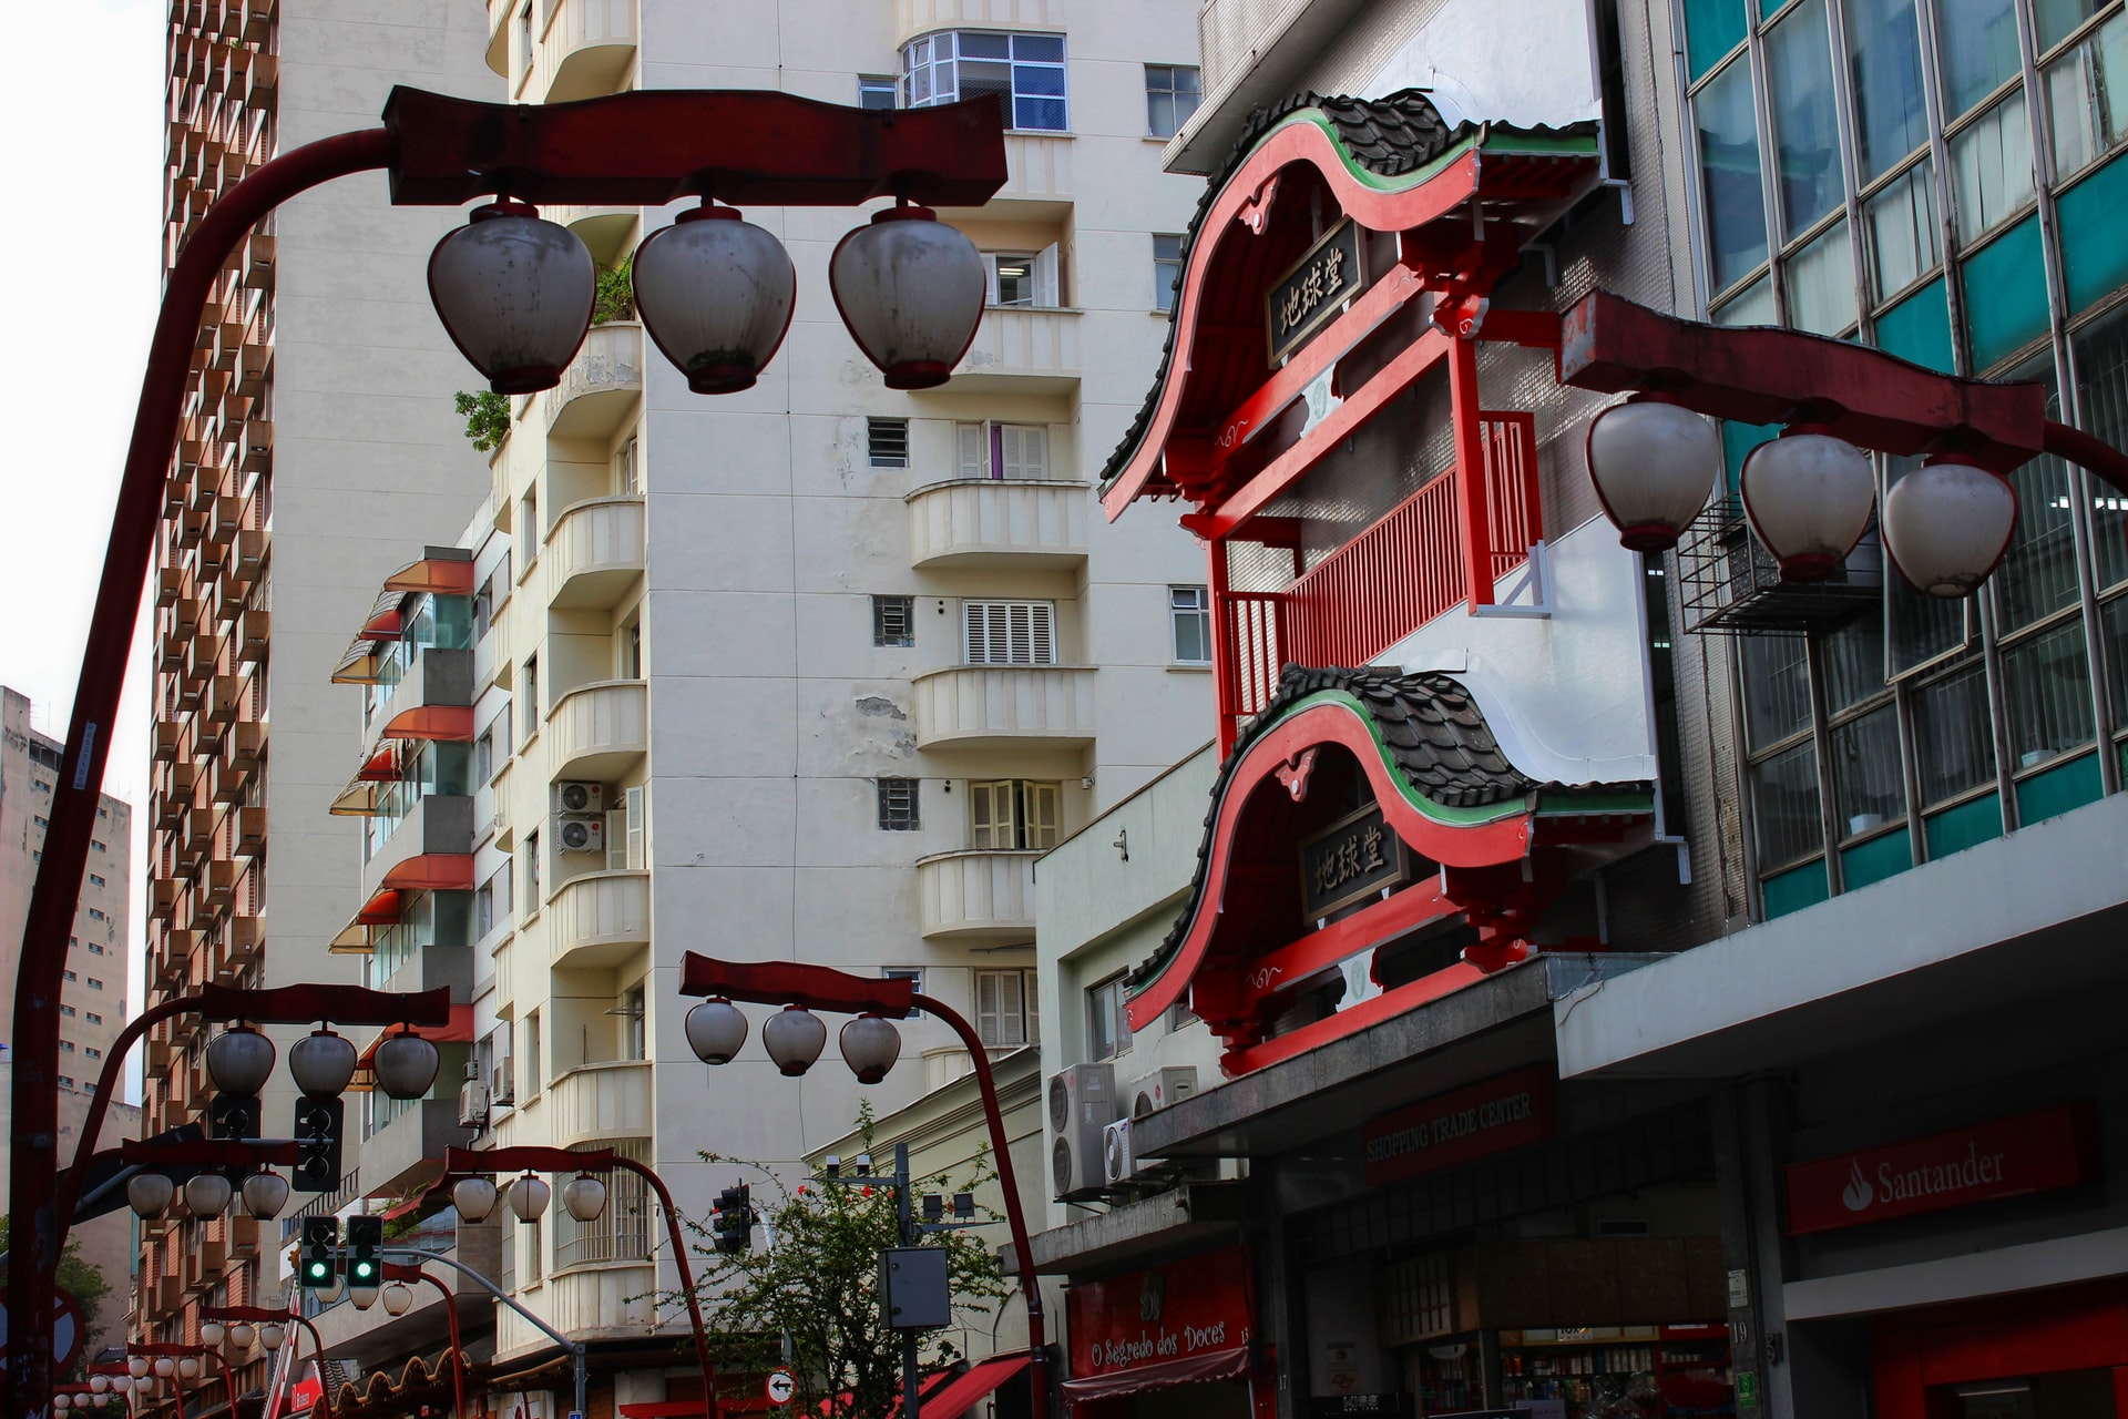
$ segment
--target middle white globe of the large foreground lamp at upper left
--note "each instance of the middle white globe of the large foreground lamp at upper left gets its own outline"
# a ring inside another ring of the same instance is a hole
[[[636,247],[630,281],[643,328],[696,394],[751,389],[798,298],[783,243],[706,200]]]

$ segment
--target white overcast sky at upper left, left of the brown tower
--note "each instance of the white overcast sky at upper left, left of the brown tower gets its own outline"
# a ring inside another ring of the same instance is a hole
[[[68,45],[0,85],[9,198],[0,260],[19,283],[0,462],[0,683],[60,738],[89,634],[119,468],[162,296],[160,0],[74,0]],[[64,296],[64,300],[62,300]],[[145,574],[147,568],[132,568]],[[143,613],[104,791],[134,804],[128,1011],[140,1008],[147,862],[147,634]],[[128,1089],[132,1094],[132,1089]]]

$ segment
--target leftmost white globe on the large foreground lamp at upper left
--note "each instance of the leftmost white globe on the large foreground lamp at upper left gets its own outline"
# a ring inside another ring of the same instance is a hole
[[[496,394],[562,383],[592,330],[598,270],[583,240],[528,202],[475,206],[428,255],[428,298]]]

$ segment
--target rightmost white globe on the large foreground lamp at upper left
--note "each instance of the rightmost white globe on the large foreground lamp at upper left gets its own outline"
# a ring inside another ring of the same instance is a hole
[[[843,236],[828,285],[887,389],[943,385],[983,321],[983,255],[928,206],[890,206]]]

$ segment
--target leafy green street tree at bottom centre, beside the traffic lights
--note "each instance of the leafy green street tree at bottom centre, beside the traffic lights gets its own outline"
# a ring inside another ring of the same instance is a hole
[[[866,1151],[872,1145],[872,1113],[858,1117]],[[794,1413],[817,1410],[836,1398],[836,1413],[879,1419],[902,1391],[902,1334],[879,1315],[879,1253],[896,1247],[892,1181],[804,1183],[796,1191],[762,1168],[741,1159],[702,1153],[711,1164],[749,1170],[753,1211],[766,1223],[770,1245],[726,1255],[711,1242],[709,1228],[687,1221],[702,1238],[696,1251],[709,1259],[696,1289],[702,1298],[711,1353],[719,1370],[762,1372],[787,1364],[798,1379]],[[972,1176],[951,1183],[945,1174],[911,1183],[915,1196],[975,1191],[996,1172],[987,1153]],[[762,1179],[768,1179],[766,1183]],[[764,1204],[762,1196],[768,1193]],[[981,1208],[990,1221],[996,1213]],[[972,1323],[990,1311],[985,1302],[1004,1296],[992,1245],[983,1232],[945,1232],[926,1238],[947,1251],[947,1281],[955,1325]],[[960,1351],[951,1332],[928,1332],[924,1357],[951,1364]],[[849,1396],[849,1408],[838,1396]]]

